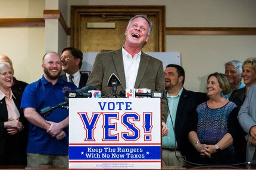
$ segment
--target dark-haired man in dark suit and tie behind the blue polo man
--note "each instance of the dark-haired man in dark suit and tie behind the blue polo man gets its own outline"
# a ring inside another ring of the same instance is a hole
[[[88,74],[80,72],[83,63],[83,53],[74,47],[64,48],[61,54],[61,68],[65,72],[60,78],[72,82],[77,88],[86,85]]]

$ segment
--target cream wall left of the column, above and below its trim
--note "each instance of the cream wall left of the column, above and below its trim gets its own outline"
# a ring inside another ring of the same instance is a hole
[[[0,18],[43,18],[44,0],[1,0]],[[45,53],[44,27],[0,27],[0,53],[14,65],[14,76],[28,83],[42,76]]]

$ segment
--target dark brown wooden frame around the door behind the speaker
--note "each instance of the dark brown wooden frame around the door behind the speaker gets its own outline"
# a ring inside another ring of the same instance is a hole
[[[166,8],[165,6],[155,5],[79,5],[71,6],[71,36],[70,44],[73,47],[80,47],[80,17],[82,15],[136,15],[150,14],[156,15],[158,20],[157,31],[157,51],[164,52],[166,49]],[[153,26],[154,27],[154,26]]]

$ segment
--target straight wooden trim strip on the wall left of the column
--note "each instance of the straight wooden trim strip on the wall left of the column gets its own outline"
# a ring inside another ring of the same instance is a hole
[[[0,27],[44,27],[43,18],[1,18]]]

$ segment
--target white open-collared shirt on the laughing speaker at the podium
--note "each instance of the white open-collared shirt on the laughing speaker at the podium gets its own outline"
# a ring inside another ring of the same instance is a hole
[[[122,48],[123,52],[123,62],[124,62],[124,74],[126,76],[126,88],[134,88],[138,70],[139,70],[139,62],[141,61],[141,52],[135,54],[132,57],[131,54]]]

